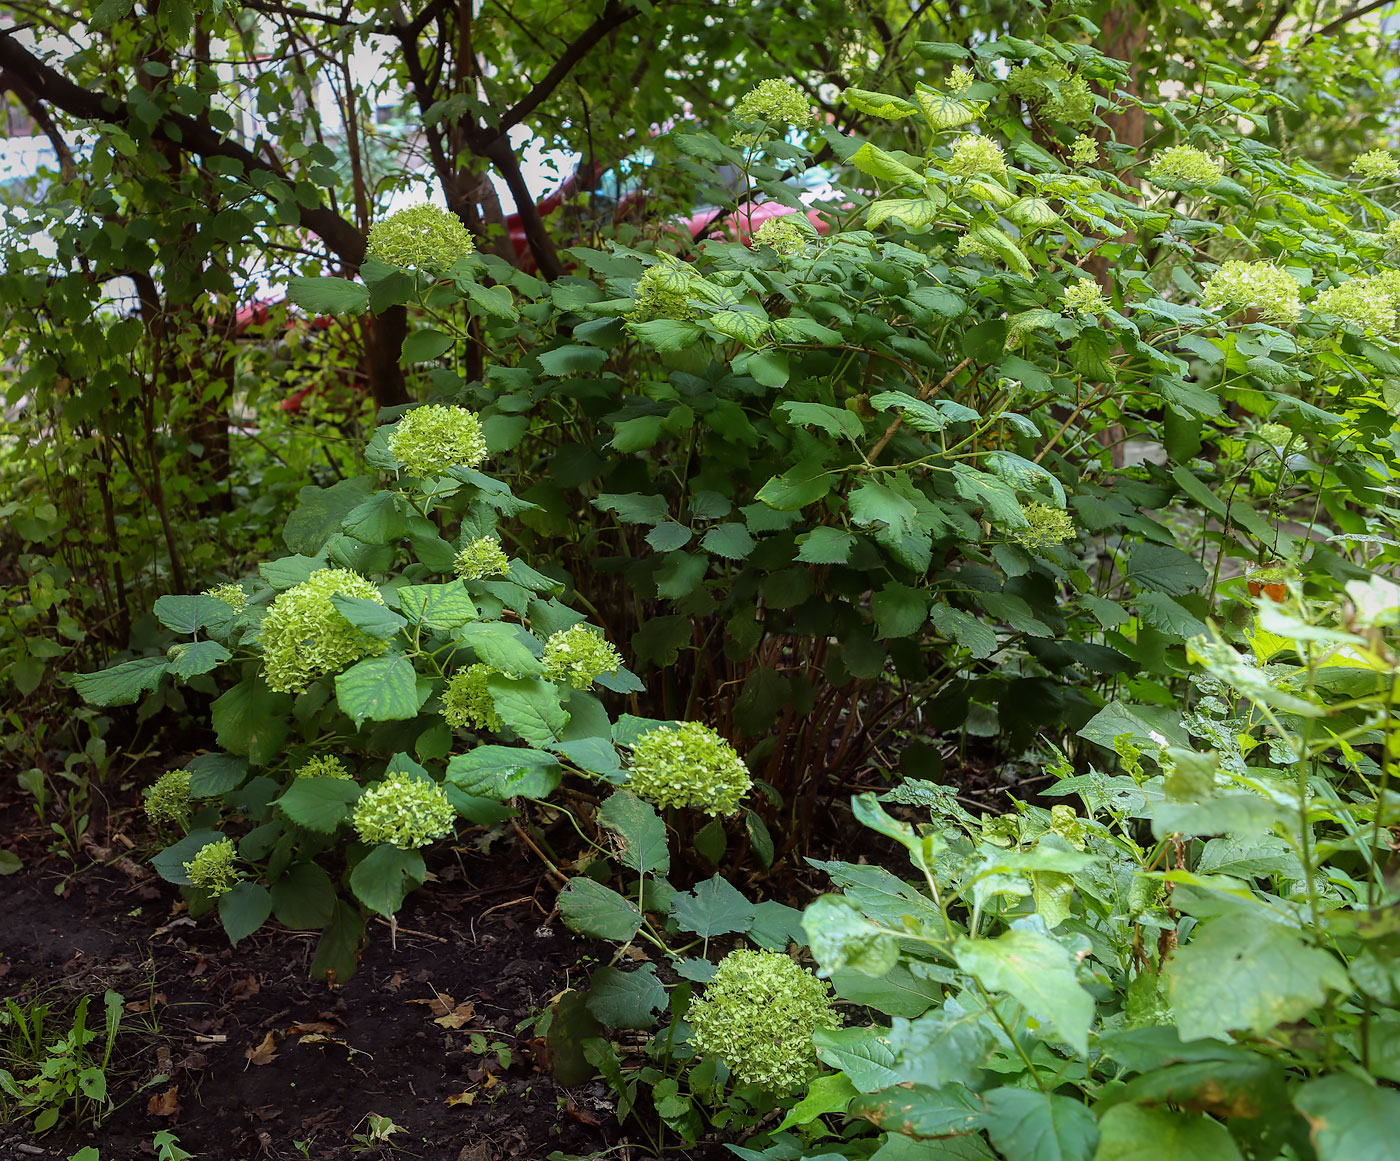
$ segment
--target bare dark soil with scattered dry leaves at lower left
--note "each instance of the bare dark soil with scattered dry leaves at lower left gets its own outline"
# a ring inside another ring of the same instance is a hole
[[[99,1027],[113,989],[126,1017],[109,1070],[119,1108],[90,1132],[0,1125],[0,1161],[62,1161],[87,1144],[102,1161],[154,1158],[161,1129],[218,1161],[650,1155],[627,1146],[606,1085],[564,1088],[549,1073],[533,1020],[584,982],[598,948],[550,919],[556,892],[528,856],[442,853],[399,915],[398,945],[371,924],[360,971],[328,987],[308,973],[312,936],[270,924],[230,948],[214,916],[190,919],[175,888],[113,853],[119,829],[71,874],[28,795],[4,783],[0,849],[25,867],[0,878],[0,994],[57,1011],[87,993]],[[393,1148],[356,1141],[371,1113],[402,1126]]]

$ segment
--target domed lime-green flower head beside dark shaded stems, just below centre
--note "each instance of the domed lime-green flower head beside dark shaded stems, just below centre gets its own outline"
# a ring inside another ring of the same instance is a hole
[[[724,738],[699,721],[648,730],[631,748],[627,788],[658,807],[734,814],[753,788],[749,767]]]

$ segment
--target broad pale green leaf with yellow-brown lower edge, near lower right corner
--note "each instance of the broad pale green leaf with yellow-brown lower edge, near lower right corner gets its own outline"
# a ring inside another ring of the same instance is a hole
[[[1200,924],[1166,968],[1168,997],[1183,1041],[1266,1035],[1350,992],[1341,964],[1289,927],[1263,916],[1232,915]]]

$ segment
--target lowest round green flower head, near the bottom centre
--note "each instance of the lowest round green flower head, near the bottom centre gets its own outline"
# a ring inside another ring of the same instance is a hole
[[[690,1043],[741,1084],[791,1092],[816,1076],[818,1028],[840,1028],[832,985],[777,951],[731,951],[690,1004]]]

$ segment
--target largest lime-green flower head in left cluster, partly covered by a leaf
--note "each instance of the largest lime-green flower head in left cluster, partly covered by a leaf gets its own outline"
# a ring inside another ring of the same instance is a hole
[[[379,590],[349,569],[316,569],[301,584],[280,592],[260,630],[263,675],[272,689],[300,693],[314,678],[339,674],[353,661],[389,647],[346,620],[332,597],[384,604]]]

